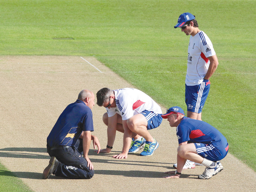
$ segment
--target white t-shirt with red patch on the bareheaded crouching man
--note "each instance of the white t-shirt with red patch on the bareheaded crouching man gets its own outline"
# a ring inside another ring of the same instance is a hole
[[[133,88],[114,90],[116,108],[106,108],[108,116],[116,113],[122,116],[122,120],[127,120],[144,110],[162,114],[160,106],[146,93]]]

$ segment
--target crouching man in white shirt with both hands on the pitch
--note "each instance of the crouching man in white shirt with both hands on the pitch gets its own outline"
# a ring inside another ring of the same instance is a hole
[[[113,148],[116,131],[124,133],[124,145],[117,159],[127,158],[128,153],[144,149],[140,156],[151,156],[159,144],[148,130],[162,123],[162,110],[146,93],[132,88],[111,90],[102,88],[97,92],[97,105],[106,108],[103,122],[108,126],[108,144],[102,153]]]

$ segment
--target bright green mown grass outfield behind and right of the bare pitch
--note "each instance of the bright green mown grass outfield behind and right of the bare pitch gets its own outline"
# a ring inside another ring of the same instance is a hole
[[[256,171],[256,1],[0,1],[0,55],[94,56],[185,110],[189,36],[173,28],[183,12],[196,15],[219,59],[202,119]]]

